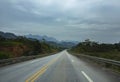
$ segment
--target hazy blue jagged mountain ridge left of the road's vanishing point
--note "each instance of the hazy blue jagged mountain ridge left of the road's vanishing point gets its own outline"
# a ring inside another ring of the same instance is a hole
[[[46,35],[44,36],[41,36],[41,35],[32,35],[32,34],[29,34],[29,35],[25,35],[27,38],[32,38],[32,39],[37,39],[39,41],[42,41],[43,39],[45,39],[46,41],[51,41],[51,42],[58,42],[58,40],[56,40],[55,38],[53,37],[48,37]]]

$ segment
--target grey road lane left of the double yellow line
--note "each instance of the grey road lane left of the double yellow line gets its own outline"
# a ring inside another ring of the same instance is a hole
[[[25,80],[41,69],[59,54],[30,60],[0,68],[0,82],[25,82]]]

